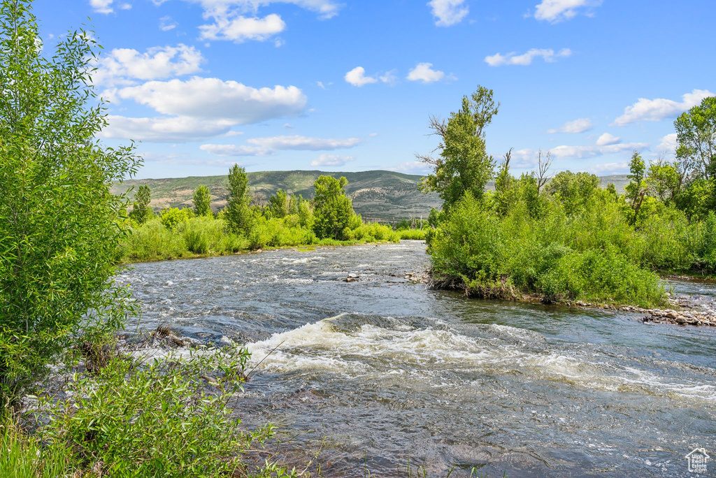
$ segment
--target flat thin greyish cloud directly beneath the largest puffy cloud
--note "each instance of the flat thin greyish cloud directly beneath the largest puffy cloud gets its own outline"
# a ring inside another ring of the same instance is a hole
[[[130,118],[107,116],[107,127],[100,136],[111,139],[183,142],[221,135],[233,125],[226,120],[207,120],[192,117]]]

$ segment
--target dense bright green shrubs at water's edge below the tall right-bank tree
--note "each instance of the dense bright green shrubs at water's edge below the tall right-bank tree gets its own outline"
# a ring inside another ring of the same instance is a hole
[[[522,203],[501,218],[467,196],[432,238],[432,270],[438,283],[476,296],[662,303],[658,276],[624,252],[628,233],[609,203],[576,215],[551,203],[539,218]]]

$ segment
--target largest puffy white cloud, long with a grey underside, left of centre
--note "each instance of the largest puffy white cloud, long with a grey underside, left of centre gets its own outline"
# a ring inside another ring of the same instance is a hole
[[[299,116],[307,102],[301,89],[293,86],[257,89],[234,81],[201,77],[147,82],[122,88],[117,96],[134,99],[163,114],[229,120],[234,125]]]

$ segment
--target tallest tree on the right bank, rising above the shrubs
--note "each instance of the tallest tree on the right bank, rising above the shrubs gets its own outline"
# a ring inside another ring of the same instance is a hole
[[[478,199],[483,197],[485,185],[493,177],[495,160],[485,150],[485,127],[498,113],[493,90],[478,87],[471,97],[463,97],[462,107],[450,114],[447,122],[432,117],[430,128],[440,137],[435,151],[437,157],[417,157],[433,167],[432,174],[422,179],[424,192],[435,191],[449,210],[465,192]]]

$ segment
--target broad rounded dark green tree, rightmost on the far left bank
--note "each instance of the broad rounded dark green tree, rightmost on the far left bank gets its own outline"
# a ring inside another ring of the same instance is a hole
[[[344,188],[345,177],[337,180],[331,176],[319,176],[314,183],[314,233],[319,238],[342,239],[343,230],[354,215],[353,204]]]

